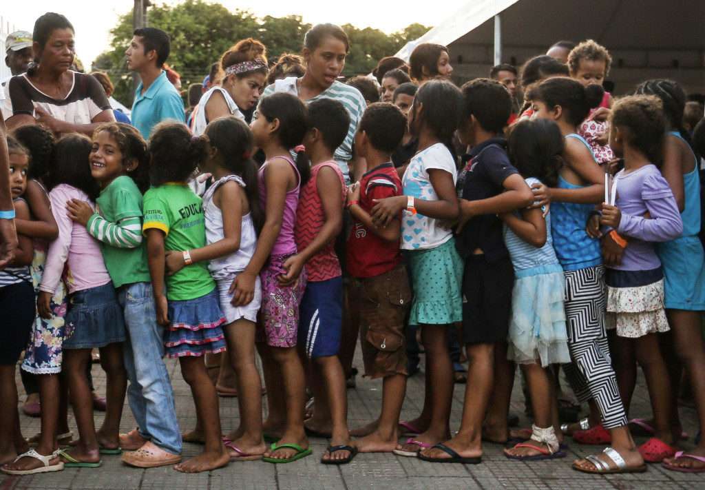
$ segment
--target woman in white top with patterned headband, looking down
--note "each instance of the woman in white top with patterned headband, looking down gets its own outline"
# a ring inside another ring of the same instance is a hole
[[[196,136],[203,134],[210,121],[221,116],[232,114],[250,122],[269,73],[266,48],[250,37],[243,39],[223,53],[219,68],[224,73],[221,85],[214,85],[198,102],[193,123]]]

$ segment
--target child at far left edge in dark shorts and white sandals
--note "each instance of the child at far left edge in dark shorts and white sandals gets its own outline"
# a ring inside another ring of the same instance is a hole
[[[30,152],[12,137],[7,138],[7,146],[10,190],[16,217],[29,220],[30,210],[20,196],[27,189]],[[57,471],[63,469],[58,453],[41,455],[30,449],[20,431],[15,366],[27,345],[35,318],[35,294],[32,291],[29,268],[33,254],[32,239],[18,234],[18,241],[15,258],[6,268],[0,270],[0,309],[3,312],[0,321],[0,466],[5,473],[27,474],[8,470],[4,465],[28,457],[42,463],[36,470],[30,470],[32,473]]]

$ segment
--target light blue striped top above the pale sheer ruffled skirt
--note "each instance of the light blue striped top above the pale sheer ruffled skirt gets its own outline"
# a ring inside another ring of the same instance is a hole
[[[541,184],[539,179],[529,177],[525,179],[527,185]],[[514,214],[521,216],[514,211]],[[513,232],[507,225],[504,228],[504,243],[509,251],[514,266],[514,275],[517,279],[529,277],[531,275],[548,274],[561,272],[556,252],[553,251],[553,238],[551,236],[551,212],[546,214],[546,244],[540,249],[528,244]]]

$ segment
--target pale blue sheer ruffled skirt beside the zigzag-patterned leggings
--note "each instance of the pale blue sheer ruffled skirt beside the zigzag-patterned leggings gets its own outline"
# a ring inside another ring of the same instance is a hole
[[[514,282],[507,358],[541,366],[570,362],[565,326],[562,270],[521,277]]]

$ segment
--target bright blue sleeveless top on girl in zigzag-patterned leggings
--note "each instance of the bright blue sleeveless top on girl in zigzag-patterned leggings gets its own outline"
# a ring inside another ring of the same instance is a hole
[[[590,148],[587,141],[575,133],[569,134],[565,138],[577,138],[588,149]],[[575,186],[558,176],[558,189],[581,189],[582,187],[586,186]],[[587,225],[587,219],[593,209],[594,205],[592,204],[561,203],[559,201],[551,203],[553,247],[556,249],[556,256],[560,265],[563,266],[563,270],[585,269],[602,263],[599,240],[590,238],[585,233],[585,225]]]

